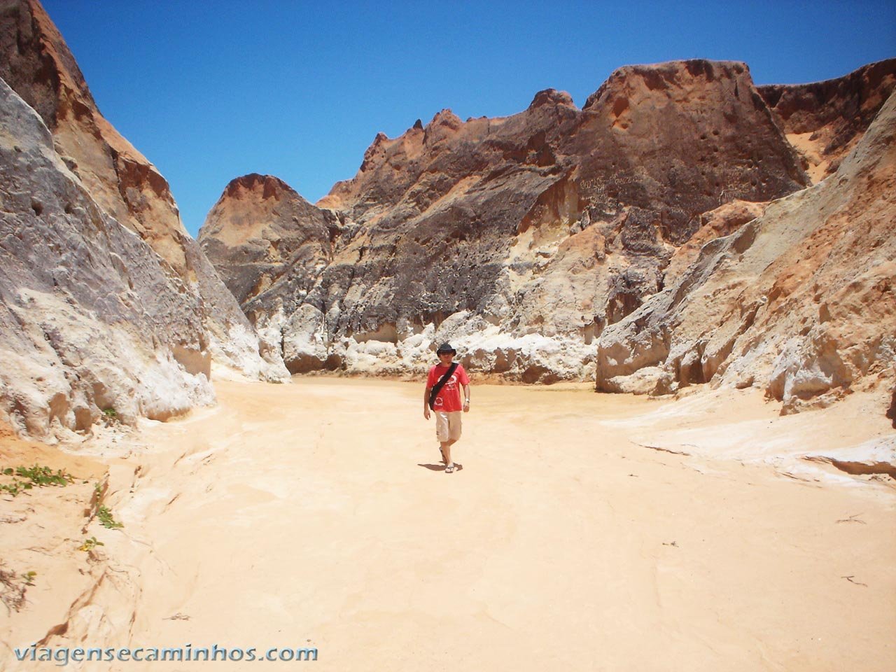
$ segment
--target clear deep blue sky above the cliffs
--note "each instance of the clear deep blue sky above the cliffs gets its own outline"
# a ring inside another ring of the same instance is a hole
[[[442,108],[580,107],[622,65],[745,61],[814,82],[896,56],[896,2],[344,3],[44,0],[103,115],[161,171],[196,235],[224,186],[276,175],[311,202],[375,134]]]

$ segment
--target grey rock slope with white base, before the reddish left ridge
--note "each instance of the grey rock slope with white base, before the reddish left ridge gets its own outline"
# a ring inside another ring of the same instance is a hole
[[[202,319],[0,81],[0,417],[47,435],[213,401]],[[111,409],[111,410],[110,410]]]

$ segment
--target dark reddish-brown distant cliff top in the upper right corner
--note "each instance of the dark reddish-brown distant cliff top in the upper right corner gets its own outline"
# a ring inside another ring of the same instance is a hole
[[[814,182],[833,174],[896,89],[896,58],[840,79],[759,87]]]

